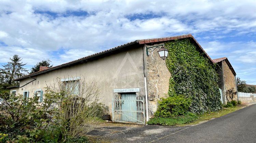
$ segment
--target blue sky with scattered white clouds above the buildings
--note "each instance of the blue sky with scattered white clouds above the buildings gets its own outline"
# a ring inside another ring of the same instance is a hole
[[[59,65],[136,39],[191,33],[256,84],[255,0],[0,0],[0,68],[18,54]]]

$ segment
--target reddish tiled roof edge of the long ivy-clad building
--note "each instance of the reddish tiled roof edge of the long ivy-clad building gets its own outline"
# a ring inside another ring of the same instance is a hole
[[[212,61],[212,59],[210,58],[210,56],[203,50],[203,48],[200,46],[200,44],[196,41],[196,39],[191,34],[187,34],[187,35],[181,35],[181,36],[164,37],[164,38],[153,38],[153,39],[141,39],[141,40],[132,41],[132,42],[126,43],[124,45],[120,45],[120,46],[114,47],[114,48],[109,49],[109,50],[105,50],[105,51],[102,51],[102,52],[99,52],[99,53],[95,53],[95,54],[89,55],[89,56],[81,58],[81,59],[77,59],[77,60],[74,60],[74,61],[71,61],[71,62],[68,62],[68,63],[65,63],[65,64],[61,64],[61,65],[58,65],[58,66],[47,68],[47,69],[41,70],[39,72],[35,72],[33,74],[26,75],[26,76],[21,77],[21,78],[17,78],[14,81],[21,80],[21,79],[24,79],[24,78],[27,78],[27,77],[31,77],[31,76],[40,75],[40,74],[43,74],[43,73],[46,73],[46,72],[49,72],[51,70],[55,70],[55,69],[58,69],[58,68],[70,66],[72,64],[79,63],[81,61],[86,61],[86,60],[89,60],[91,58],[97,57],[99,55],[115,51],[117,49],[128,47],[130,45],[134,45],[134,44],[140,45],[140,44],[149,44],[149,43],[157,43],[157,42],[166,42],[166,41],[171,41],[171,40],[174,40],[174,39],[183,39],[183,38],[192,38],[193,41],[196,43],[196,45],[198,45],[199,49],[203,53],[205,53],[207,58],[209,58],[212,63],[214,63]]]

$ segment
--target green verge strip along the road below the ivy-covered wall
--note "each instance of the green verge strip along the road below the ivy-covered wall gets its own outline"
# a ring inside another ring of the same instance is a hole
[[[176,117],[154,117],[147,122],[149,125],[161,125],[161,126],[186,126],[186,125],[196,125],[205,121],[209,121],[212,118],[218,118],[228,113],[237,111],[246,105],[232,106],[229,108],[223,108],[217,112],[204,113],[201,115],[196,115],[193,113],[187,113],[183,116]]]

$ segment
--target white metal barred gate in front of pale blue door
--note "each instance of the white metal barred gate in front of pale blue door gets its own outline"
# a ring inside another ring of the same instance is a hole
[[[113,98],[112,103],[113,122],[145,125],[144,97],[123,94]]]

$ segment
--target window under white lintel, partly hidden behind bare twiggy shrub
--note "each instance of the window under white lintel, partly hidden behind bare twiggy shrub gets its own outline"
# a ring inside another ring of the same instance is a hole
[[[70,93],[71,95],[79,95],[80,90],[80,81],[73,80],[73,81],[65,81],[65,90]]]

